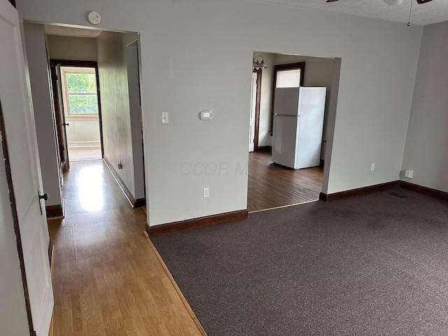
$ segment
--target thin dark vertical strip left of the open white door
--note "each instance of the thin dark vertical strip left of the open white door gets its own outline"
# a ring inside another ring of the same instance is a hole
[[[29,335],[36,335],[34,331],[33,318],[31,315],[31,304],[29,302],[29,292],[28,292],[28,282],[27,282],[27,272],[25,271],[25,258],[23,255],[22,248],[22,236],[20,235],[20,226],[19,226],[19,216],[17,212],[17,205],[15,202],[15,193],[13,188],[13,175],[11,174],[11,167],[9,161],[9,152],[8,152],[8,141],[6,139],[6,126],[5,121],[3,119],[3,110],[1,109],[1,101],[0,101],[0,133],[1,133],[1,147],[3,148],[3,158],[4,165],[6,170],[6,181],[8,181],[8,190],[9,190],[9,200],[11,206],[11,213],[13,215],[13,223],[14,223],[14,232],[17,243],[17,251],[20,262],[20,273],[22,274],[22,285],[23,285],[23,293],[25,296],[25,308],[27,309],[27,318],[28,318],[28,326],[29,326]]]

